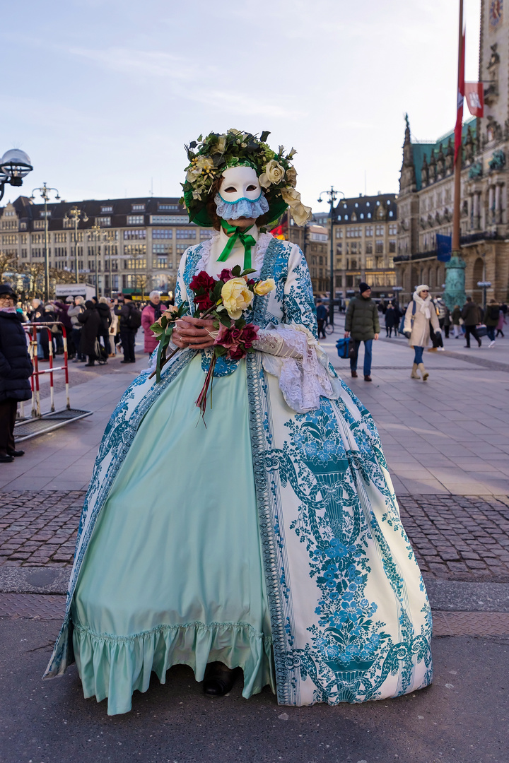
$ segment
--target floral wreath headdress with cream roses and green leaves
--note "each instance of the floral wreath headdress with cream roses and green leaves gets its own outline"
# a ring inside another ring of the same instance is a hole
[[[295,190],[297,172],[292,157],[297,152],[292,148],[285,153],[284,146],[279,146],[275,153],[266,143],[269,134],[264,130],[257,137],[241,130],[228,130],[226,134],[210,133],[205,138],[200,135],[185,146],[189,164],[185,168],[181,203],[187,208],[189,222],[211,227],[207,201],[212,183],[225,169],[236,166],[250,166],[256,171],[269,203],[267,224],[281,217],[287,208],[298,225],[311,219],[311,207],[301,203],[301,195]]]

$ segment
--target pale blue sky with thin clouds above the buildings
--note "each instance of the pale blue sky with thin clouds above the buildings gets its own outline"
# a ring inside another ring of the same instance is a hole
[[[67,201],[179,196],[184,143],[230,127],[295,146],[320,211],[398,192],[414,140],[456,120],[458,0],[24,0],[2,6],[0,154],[21,148]],[[478,79],[480,0],[465,0]],[[466,112],[466,117],[469,114]]]

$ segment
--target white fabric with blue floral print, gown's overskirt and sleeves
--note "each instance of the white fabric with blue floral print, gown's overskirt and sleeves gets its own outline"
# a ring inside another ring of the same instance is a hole
[[[179,298],[195,274],[200,246],[185,254]],[[261,277],[275,278],[276,289],[255,298],[253,322],[300,324],[316,336],[311,279],[298,246],[273,240]],[[72,660],[69,604],[118,464],[154,395],[164,394],[194,354],[178,353],[160,385],[146,376],[134,381],[111,417],[83,508],[66,621],[47,677]],[[317,410],[295,414],[277,379],[264,371],[261,354],[247,356],[243,368],[278,701],[362,702],[425,687],[432,679],[430,605],[375,423],[344,383],[340,399],[321,398]],[[206,353],[202,361],[206,369]],[[236,371],[238,364],[231,363],[218,375]]]

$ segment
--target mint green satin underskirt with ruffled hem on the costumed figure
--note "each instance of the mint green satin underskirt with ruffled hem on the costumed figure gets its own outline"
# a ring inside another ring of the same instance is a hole
[[[253,478],[246,365],[214,379],[207,427],[198,355],[157,399],[115,478],[72,601],[85,697],[127,713],[150,673],[201,681],[243,668],[243,697],[275,691]]]

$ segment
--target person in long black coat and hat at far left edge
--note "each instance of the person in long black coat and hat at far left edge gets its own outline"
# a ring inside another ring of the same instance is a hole
[[[24,450],[14,448],[14,424],[18,401],[32,396],[28,381],[32,363],[16,301],[11,286],[0,285],[0,463],[24,455]]]

